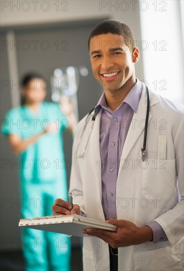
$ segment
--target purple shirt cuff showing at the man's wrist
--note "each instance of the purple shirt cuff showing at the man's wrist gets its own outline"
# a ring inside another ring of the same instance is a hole
[[[153,231],[153,240],[152,240],[153,243],[168,240],[164,230],[162,229],[160,224],[158,224],[156,221],[152,221],[147,226],[149,226]]]

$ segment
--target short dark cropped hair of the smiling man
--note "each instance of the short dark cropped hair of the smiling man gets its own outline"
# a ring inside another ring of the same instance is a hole
[[[122,35],[126,46],[128,46],[128,48],[130,49],[130,52],[132,52],[133,49],[136,47],[134,35],[131,29],[126,24],[117,20],[105,20],[99,23],[92,30],[88,40],[89,50],[90,50],[90,41],[92,37],[108,33]]]

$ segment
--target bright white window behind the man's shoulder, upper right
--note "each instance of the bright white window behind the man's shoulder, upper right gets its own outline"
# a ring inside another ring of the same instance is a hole
[[[139,1],[145,80],[150,89],[184,103],[182,13],[179,0]],[[140,48],[139,48],[140,49]]]

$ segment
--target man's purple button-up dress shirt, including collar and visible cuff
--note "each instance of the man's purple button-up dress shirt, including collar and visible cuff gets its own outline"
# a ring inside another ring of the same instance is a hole
[[[137,112],[142,94],[142,83],[136,79],[136,84],[125,97],[122,104],[112,111],[105,99],[101,96],[96,104],[94,115],[101,113],[100,121],[100,156],[101,156],[101,179],[102,179],[102,206],[105,219],[117,219],[116,211],[116,183],[120,166],[123,145],[128,129]],[[109,208],[109,201],[111,208]],[[168,240],[162,227],[153,221],[148,224],[153,230],[153,242]]]

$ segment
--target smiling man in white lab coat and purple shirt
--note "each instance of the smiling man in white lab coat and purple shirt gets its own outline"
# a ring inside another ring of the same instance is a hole
[[[133,34],[122,22],[103,21],[90,35],[89,50],[104,93],[85,130],[86,117],[76,131],[70,179],[75,204],[59,199],[53,215],[82,214],[118,226],[116,233],[83,232],[85,271],[183,270],[183,111],[150,92],[143,161],[148,96],[135,77]]]

